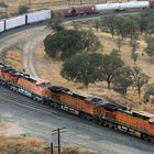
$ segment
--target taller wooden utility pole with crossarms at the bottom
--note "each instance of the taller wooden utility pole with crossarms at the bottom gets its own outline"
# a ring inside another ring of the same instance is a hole
[[[61,154],[61,133],[65,133],[66,131],[63,131],[65,130],[66,128],[58,128],[56,130],[53,130],[53,135],[54,134],[57,134],[57,141],[58,141],[58,154]]]

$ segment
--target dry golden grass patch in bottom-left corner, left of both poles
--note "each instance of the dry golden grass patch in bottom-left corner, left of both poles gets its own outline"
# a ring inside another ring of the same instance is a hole
[[[37,138],[6,138],[0,136],[1,154],[45,154],[44,141]]]

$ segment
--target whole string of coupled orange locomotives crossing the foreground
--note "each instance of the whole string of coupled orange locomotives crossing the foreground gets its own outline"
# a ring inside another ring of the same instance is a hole
[[[154,142],[154,114],[130,110],[98,96],[84,95],[48,81],[36,80],[3,63],[0,63],[0,85],[45,106]]]

